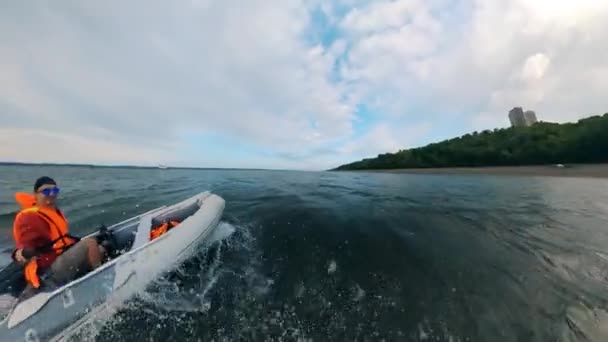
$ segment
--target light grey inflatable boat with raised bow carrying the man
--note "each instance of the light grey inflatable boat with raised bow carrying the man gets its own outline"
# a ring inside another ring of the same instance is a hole
[[[68,284],[54,287],[43,283],[39,292],[15,299],[0,323],[0,341],[56,339],[65,331],[77,329],[106,302],[120,303],[144,290],[159,275],[194,253],[218,226],[224,206],[221,197],[203,192],[102,227],[89,236],[102,240],[110,249],[109,260]],[[0,291],[4,296],[23,289],[24,283],[15,285],[22,276],[17,264],[0,271]]]

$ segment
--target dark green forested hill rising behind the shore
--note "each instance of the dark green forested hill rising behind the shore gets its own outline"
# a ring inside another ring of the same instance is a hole
[[[608,113],[576,123],[539,122],[466,134],[397,153],[380,154],[334,170],[517,166],[608,162]]]

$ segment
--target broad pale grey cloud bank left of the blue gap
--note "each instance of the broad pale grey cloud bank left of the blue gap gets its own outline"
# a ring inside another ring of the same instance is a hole
[[[21,5],[2,17],[5,127],[105,129],[142,149],[208,130],[278,151],[351,132],[332,58],[300,38],[310,18],[298,1]]]

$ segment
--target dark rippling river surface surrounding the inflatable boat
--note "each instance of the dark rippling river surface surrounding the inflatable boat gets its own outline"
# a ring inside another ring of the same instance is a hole
[[[0,166],[48,175],[83,235],[210,190],[210,246],[76,340],[608,341],[608,181]]]

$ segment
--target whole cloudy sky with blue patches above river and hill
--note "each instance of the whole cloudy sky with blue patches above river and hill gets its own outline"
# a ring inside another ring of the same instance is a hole
[[[608,112],[605,0],[5,1],[0,161],[324,170]]]

